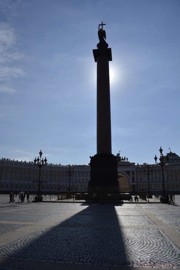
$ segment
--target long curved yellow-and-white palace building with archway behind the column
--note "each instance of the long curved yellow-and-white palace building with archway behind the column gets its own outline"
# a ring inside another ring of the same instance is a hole
[[[165,189],[169,193],[180,194],[180,157],[175,153],[167,153],[168,163],[163,166]],[[162,191],[162,166],[159,164],[137,164],[126,160],[118,160],[118,181],[120,192],[138,193],[148,191],[151,194]],[[41,168],[41,190],[42,193],[50,194],[87,193],[90,181],[89,165],[71,165],[74,174],[69,177],[66,173],[70,165],[46,164]],[[149,175],[147,168],[149,167]],[[149,178],[149,179],[148,179]],[[149,180],[149,182],[148,182]],[[39,168],[34,162],[10,160],[0,158],[0,193],[29,191],[36,193],[39,183]],[[108,192],[108,190],[107,190]]]

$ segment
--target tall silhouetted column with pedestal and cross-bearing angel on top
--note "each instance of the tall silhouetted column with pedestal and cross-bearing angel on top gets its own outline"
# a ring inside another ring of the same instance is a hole
[[[119,193],[118,164],[111,153],[109,61],[112,55],[103,25],[106,24],[99,24],[98,28],[98,49],[93,50],[97,62],[97,154],[90,156],[88,193]]]

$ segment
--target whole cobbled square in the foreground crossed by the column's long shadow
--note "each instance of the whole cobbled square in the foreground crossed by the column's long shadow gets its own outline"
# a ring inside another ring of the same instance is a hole
[[[180,268],[179,201],[173,206],[0,200],[0,225],[0,269]]]

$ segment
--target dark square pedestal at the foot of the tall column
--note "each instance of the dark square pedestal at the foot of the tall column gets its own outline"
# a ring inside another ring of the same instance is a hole
[[[96,154],[90,157],[88,193],[116,194],[119,192],[118,163],[113,154]]]

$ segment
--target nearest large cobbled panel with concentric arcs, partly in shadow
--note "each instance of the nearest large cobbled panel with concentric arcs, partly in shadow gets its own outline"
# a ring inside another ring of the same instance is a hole
[[[2,247],[14,258],[91,264],[180,263],[178,248],[158,229],[49,227]]]

